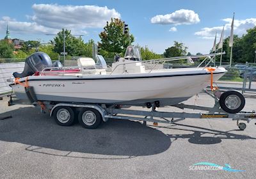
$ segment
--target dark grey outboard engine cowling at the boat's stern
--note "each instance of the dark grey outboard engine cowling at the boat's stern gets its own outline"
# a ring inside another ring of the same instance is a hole
[[[40,72],[44,68],[51,67],[51,58],[44,52],[35,52],[26,58],[24,70],[21,74],[14,72],[13,76],[15,78],[27,77],[35,74],[35,72]]]

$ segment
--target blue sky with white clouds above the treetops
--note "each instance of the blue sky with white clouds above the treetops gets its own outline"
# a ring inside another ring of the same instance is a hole
[[[147,45],[157,53],[183,42],[189,52],[208,53],[215,33],[225,36],[235,12],[234,34],[256,25],[256,1],[3,1],[0,7],[0,39],[9,23],[12,38],[48,42],[62,28],[83,39],[99,41],[99,33],[111,17],[129,24],[134,44]]]

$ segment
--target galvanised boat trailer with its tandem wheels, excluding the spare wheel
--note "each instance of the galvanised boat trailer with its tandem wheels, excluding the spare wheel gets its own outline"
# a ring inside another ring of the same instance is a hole
[[[79,123],[85,128],[97,128],[102,121],[108,121],[109,119],[143,121],[143,124],[145,125],[147,125],[147,122],[152,122],[154,125],[158,125],[158,123],[173,124],[177,121],[185,120],[186,118],[225,118],[236,120],[237,127],[239,127],[240,130],[244,130],[246,128],[246,123],[239,121],[247,121],[247,123],[249,123],[252,119],[256,118],[255,111],[250,113],[243,111],[240,111],[239,113],[227,113],[221,109],[219,99],[216,97],[217,95],[212,95],[206,90],[205,93],[214,98],[214,107],[186,105],[182,103],[172,105],[172,107],[177,107],[179,109],[196,109],[205,111],[205,113],[157,111],[157,103],[151,105],[151,111],[131,110],[127,109],[127,106],[125,105],[107,106],[105,104],[67,102],[58,104],[53,104],[52,102],[34,102],[33,104],[40,105],[43,113],[49,111],[50,116],[54,116],[56,123],[59,125],[72,125],[76,120],[75,116],[77,113]],[[8,105],[25,104],[24,102],[19,103],[16,102],[16,100],[13,100],[12,95],[9,95],[9,97],[10,100]]]

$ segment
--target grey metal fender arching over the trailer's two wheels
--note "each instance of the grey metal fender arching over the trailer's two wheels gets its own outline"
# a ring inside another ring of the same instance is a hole
[[[105,118],[105,116],[108,114],[107,111],[103,107],[101,107],[100,105],[97,105],[97,104],[65,104],[65,103],[59,103],[59,104],[54,105],[54,107],[52,107],[50,116],[52,116],[52,113],[53,113],[54,109],[56,107],[60,107],[60,106],[93,108],[93,109],[96,109],[97,111],[99,111],[100,115],[102,116],[102,121],[104,121],[104,122],[108,121],[108,118]]]

